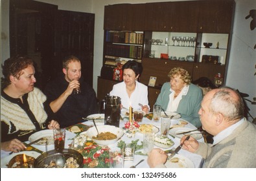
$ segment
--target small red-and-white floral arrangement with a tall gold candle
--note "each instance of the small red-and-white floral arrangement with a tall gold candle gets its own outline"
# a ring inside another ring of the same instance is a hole
[[[129,108],[129,121],[124,124],[124,134],[128,138],[134,137],[135,133],[139,131],[139,123],[132,120],[132,107]]]

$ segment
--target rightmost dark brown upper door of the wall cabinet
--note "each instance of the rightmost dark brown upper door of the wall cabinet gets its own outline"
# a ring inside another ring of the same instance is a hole
[[[198,1],[198,32],[230,33],[234,1]]]

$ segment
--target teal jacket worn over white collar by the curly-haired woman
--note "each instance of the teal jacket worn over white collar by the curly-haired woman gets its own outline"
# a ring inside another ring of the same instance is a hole
[[[171,93],[170,83],[164,83],[155,104],[161,105],[166,111],[169,103],[169,95]],[[200,127],[202,124],[200,122],[198,111],[201,107],[202,99],[202,89],[191,83],[187,95],[182,96],[176,112],[181,114],[182,119],[192,123],[195,127]]]

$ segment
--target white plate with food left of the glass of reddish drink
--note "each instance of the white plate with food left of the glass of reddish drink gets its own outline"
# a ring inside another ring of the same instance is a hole
[[[52,129],[45,129],[42,131],[38,131],[34,134],[31,134],[29,136],[29,142],[33,142],[34,140],[37,140],[39,138],[47,138],[48,145],[53,145],[53,130]],[[45,141],[41,140],[41,142],[36,143],[35,145],[45,145]]]

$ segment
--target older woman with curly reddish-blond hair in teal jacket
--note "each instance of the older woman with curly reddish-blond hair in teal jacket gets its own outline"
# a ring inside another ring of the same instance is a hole
[[[202,90],[191,83],[191,76],[185,69],[173,68],[168,76],[170,82],[163,84],[155,104],[165,111],[180,113],[181,118],[200,127],[198,111],[203,99]]]

